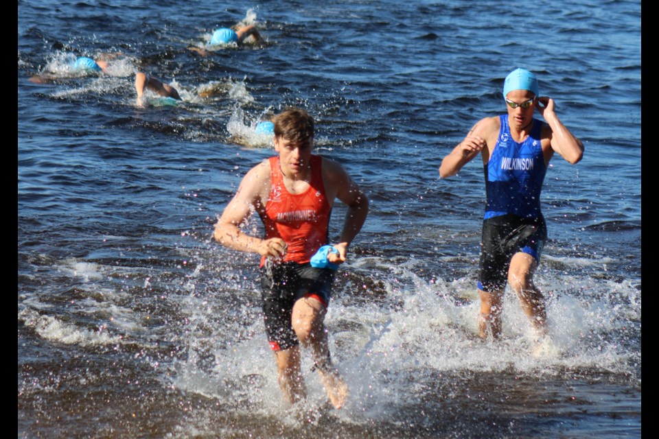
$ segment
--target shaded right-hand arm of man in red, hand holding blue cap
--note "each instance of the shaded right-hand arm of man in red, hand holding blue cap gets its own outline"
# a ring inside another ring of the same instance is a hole
[[[342,263],[345,262],[348,246],[366,221],[369,214],[369,200],[339,163],[323,158],[323,174],[328,198],[338,198],[348,206],[340,242],[334,245],[338,254],[327,255],[329,262]]]

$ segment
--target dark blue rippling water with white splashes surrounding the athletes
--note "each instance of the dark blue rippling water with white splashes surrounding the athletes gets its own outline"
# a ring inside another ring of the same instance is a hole
[[[19,437],[640,437],[640,1],[18,12]],[[238,22],[266,43],[187,49]],[[68,67],[116,53],[106,74]],[[478,119],[505,111],[518,66],[586,145],[545,180],[535,281],[559,353],[540,358],[511,292],[503,340],[478,341],[483,169],[437,172]],[[137,71],[183,102],[137,107]],[[273,154],[255,123],[288,105],[316,117],[316,151],[371,200],[327,315],[351,388],[340,411],[311,373],[307,403],[284,406],[258,258],[211,241],[242,175]]]

